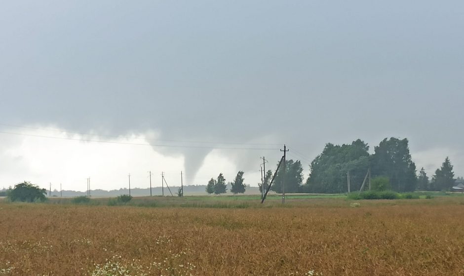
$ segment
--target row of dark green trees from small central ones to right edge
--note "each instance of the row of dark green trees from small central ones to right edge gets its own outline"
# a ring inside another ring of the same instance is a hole
[[[385,138],[374,153],[369,154],[369,146],[358,139],[351,144],[334,145],[327,143],[314,160],[309,164],[309,177],[303,182],[303,166],[300,160],[289,159],[285,166],[286,193],[321,193],[340,194],[348,192],[347,178],[349,171],[350,190],[359,191],[366,174],[370,169],[372,187],[379,190],[396,192],[450,191],[455,184],[453,165],[447,157],[442,166],[436,169],[429,179],[424,168],[417,172],[416,164],[409,152],[408,139]],[[273,173],[265,173],[264,183],[259,189],[265,191]],[[271,191],[282,193],[283,167],[276,172]],[[231,192],[243,193],[243,171],[239,171],[230,183]],[[226,181],[222,173],[217,179],[208,182],[206,191],[209,194],[226,193]]]

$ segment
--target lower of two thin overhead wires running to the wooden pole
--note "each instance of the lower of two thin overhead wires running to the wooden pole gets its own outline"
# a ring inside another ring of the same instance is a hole
[[[49,138],[49,139],[60,139],[60,140],[71,140],[71,141],[80,141],[80,142],[96,142],[96,143],[107,143],[107,144],[120,144],[120,145],[134,145],[134,146],[152,146],[152,147],[168,147],[168,148],[193,148],[193,149],[210,149],[210,150],[261,150],[261,151],[275,151],[277,149],[271,148],[226,148],[226,147],[202,147],[202,146],[181,146],[181,145],[162,145],[162,144],[142,144],[142,143],[129,143],[129,142],[116,142],[116,141],[102,141],[102,140],[90,140],[90,139],[77,139],[77,138],[68,138],[68,137],[56,137],[56,136],[46,136],[46,135],[36,135],[36,134],[25,134],[25,133],[16,133],[16,132],[7,132],[0,131],[2,134],[11,134],[11,135],[21,135],[21,136],[30,136],[30,137],[39,137],[39,138]]]

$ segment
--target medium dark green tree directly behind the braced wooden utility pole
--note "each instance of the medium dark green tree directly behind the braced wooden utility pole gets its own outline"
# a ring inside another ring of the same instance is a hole
[[[271,186],[271,190],[279,194],[282,193],[283,172],[282,164]],[[303,167],[301,166],[301,162],[299,160],[295,162],[292,159],[287,160],[285,172],[285,193],[302,192]]]

